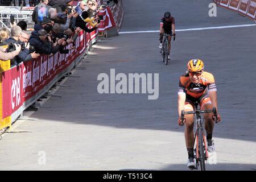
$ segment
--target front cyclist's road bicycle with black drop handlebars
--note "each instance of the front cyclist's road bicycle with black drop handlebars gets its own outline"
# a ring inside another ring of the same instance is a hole
[[[201,171],[205,171],[205,160],[208,159],[208,150],[207,150],[207,142],[205,138],[205,133],[204,133],[204,128],[203,128],[203,123],[201,119],[201,114],[203,113],[213,113],[216,120],[215,122],[217,123],[217,111],[216,107],[213,107],[212,110],[200,110],[199,103],[195,102],[195,110],[194,111],[181,111],[181,121],[183,124],[185,123],[184,115],[185,114],[196,114],[196,134],[194,138],[194,146],[195,146],[195,141],[196,141],[196,148],[194,151],[196,151],[195,159],[196,159],[196,167],[195,169],[198,169],[198,166],[200,164],[200,169]]]

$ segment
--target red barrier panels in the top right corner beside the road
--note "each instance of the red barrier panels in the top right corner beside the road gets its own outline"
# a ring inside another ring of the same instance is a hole
[[[216,5],[246,16],[256,22],[256,0],[214,0]]]

